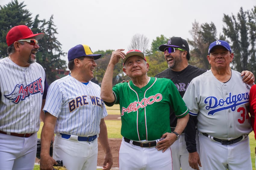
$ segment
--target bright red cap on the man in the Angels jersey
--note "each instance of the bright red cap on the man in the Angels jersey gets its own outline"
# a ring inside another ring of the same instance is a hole
[[[34,38],[36,40],[41,39],[44,36],[43,33],[34,34],[32,30],[26,25],[18,25],[10,29],[10,31],[6,35],[7,45],[10,46],[15,41],[21,39],[29,39]]]

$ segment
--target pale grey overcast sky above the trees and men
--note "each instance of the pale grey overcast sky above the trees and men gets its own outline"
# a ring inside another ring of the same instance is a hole
[[[0,5],[9,2],[0,0]],[[144,34],[150,45],[161,34],[191,40],[195,20],[213,22],[219,34],[224,14],[237,15],[240,7],[251,10],[256,0],[24,0],[24,4],[39,19],[53,15],[64,52],[77,44],[87,44],[93,52],[119,48],[127,52],[135,34]]]

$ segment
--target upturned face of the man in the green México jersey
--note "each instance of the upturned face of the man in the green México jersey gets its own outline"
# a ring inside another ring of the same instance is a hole
[[[148,63],[137,55],[129,57],[125,64],[123,71],[131,79],[146,76],[148,72]]]

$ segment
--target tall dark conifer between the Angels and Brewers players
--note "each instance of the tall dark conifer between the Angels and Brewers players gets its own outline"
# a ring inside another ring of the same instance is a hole
[[[39,21],[37,18],[38,16],[34,23]],[[66,61],[61,60],[61,56],[64,56],[66,53],[62,51],[61,43],[55,37],[58,32],[53,22],[53,16],[48,21],[44,19],[39,29],[42,30],[45,36],[39,40],[40,48],[39,52],[36,53],[37,62],[45,68],[47,82],[51,84],[56,80],[57,73],[55,70],[64,70],[66,68]]]

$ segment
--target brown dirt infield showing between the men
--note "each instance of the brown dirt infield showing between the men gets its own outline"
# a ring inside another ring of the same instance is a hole
[[[120,115],[108,115],[105,120],[120,120]],[[118,169],[118,152],[121,145],[121,139],[108,139],[112,155],[113,155],[113,166],[112,169]],[[102,167],[104,162],[105,152],[98,142],[98,160],[97,166]],[[40,160],[36,158],[35,164],[38,164]]]

